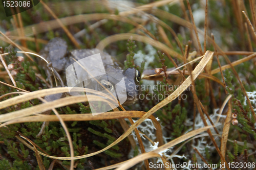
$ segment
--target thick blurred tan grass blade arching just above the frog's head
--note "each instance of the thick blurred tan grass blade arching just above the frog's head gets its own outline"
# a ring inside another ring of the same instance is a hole
[[[130,33],[115,34],[115,35],[112,35],[112,36],[108,36],[108,37],[104,38],[103,40],[101,40],[97,44],[96,48],[99,48],[100,50],[103,50],[107,45],[109,45],[113,42],[116,42],[116,41],[127,40],[131,36],[133,36],[133,40],[151,44],[152,46],[155,46],[155,47],[159,48],[162,51],[166,51],[168,54],[170,54],[174,57],[177,57],[179,59],[182,59],[182,57],[183,57],[183,56],[181,56],[180,54],[178,54],[177,52],[170,49],[168,46],[166,46],[165,44],[163,44],[159,41],[148,38],[146,36],[141,36],[141,35],[137,35],[137,34],[130,34]]]

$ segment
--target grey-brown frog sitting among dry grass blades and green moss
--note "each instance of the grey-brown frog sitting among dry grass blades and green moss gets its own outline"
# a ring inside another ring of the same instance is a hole
[[[97,48],[68,50],[67,42],[63,38],[56,37],[51,39],[39,52],[39,55],[46,59],[49,64],[40,60],[39,65],[44,68],[51,87],[53,87],[53,83],[51,82],[53,71],[51,68],[53,68],[54,72],[56,73],[55,75],[57,75],[57,77],[61,80],[61,86],[67,86],[65,76],[66,69],[74,62],[96,54],[100,54],[105,71],[111,72],[112,74],[109,74],[108,79],[101,77],[101,85],[97,86],[98,89],[96,90],[100,91],[100,88],[103,86],[112,90],[113,88],[111,87],[116,84],[115,81],[117,75],[121,75],[124,79],[127,96],[127,99],[122,106],[129,106],[136,103],[139,100],[139,94],[141,93],[139,83],[141,80],[140,71],[136,68],[123,69],[122,65],[118,63],[113,56]],[[56,100],[56,96],[48,96],[48,99]]]

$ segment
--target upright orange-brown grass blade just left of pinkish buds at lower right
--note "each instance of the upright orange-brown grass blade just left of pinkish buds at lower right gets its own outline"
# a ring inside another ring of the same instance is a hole
[[[227,117],[225,119],[224,127],[223,127],[223,132],[222,132],[222,138],[221,138],[221,154],[223,157],[226,155],[226,145],[227,145],[227,138],[228,138],[228,132],[230,128],[230,123],[231,123],[231,101],[228,101],[228,111],[227,111]],[[224,163],[224,162],[222,162]]]

